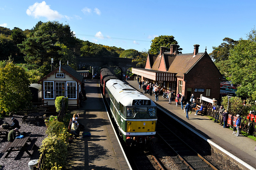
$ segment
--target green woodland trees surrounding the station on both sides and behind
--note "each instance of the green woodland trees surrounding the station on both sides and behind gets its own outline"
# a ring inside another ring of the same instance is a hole
[[[226,37],[223,41],[218,47],[212,47],[209,55],[223,76],[238,85],[236,94],[255,105],[256,31],[252,29],[246,40]],[[58,68],[61,61],[76,69],[76,57],[127,57],[132,58],[137,67],[144,68],[148,53],[157,55],[161,46],[170,49],[170,44],[178,45],[178,42],[173,36],[160,35],[152,39],[148,51],[109,47],[77,39],[69,25],[58,21],[39,21],[26,30],[0,27],[0,110],[14,111],[7,107],[8,101],[15,99],[22,103],[24,98],[29,98],[26,86],[50,73],[52,58],[54,68]],[[182,53],[179,45],[177,52]],[[24,84],[23,91],[19,89],[20,84]]]

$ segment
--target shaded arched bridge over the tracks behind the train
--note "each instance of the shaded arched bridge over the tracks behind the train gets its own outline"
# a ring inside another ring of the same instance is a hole
[[[118,66],[122,73],[130,67],[136,67],[136,64],[132,63],[132,59],[119,57],[77,57],[76,61],[78,70],[83,70],[84,67],[93,67],[95,73],[99,73],[99,69],[103,66]]]

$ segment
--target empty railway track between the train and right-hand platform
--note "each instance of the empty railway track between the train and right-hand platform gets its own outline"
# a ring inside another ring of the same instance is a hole
[[[166,143],[169,149],[176,153],[176,156],[172,156],[172,158],[176,164],[180,164],[182,170],[218,170],[159,120],[157,123],[157,135]]]

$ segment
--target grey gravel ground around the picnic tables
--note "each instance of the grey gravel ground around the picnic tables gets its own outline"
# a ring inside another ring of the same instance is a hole
[[[14,117],[16,117],[16,115],[14,115]],[[20,132],[26,132],[26,134],[30,134],[31,138],[37,138],[37,147],[34,146],[33,150],[29,151],[32,154],[31,157],[24,151],[16,151],[11,152],[8,158],[4,158],[6,152],[0,152],[0,170],[1,168],[2,170],[28,170],[28,162],[30,162],[30,160],[39,159],[40,157],[40,152],[38,151],[38,149],[41,146],[42,141],[46,137],[46,126],[44,124],[44,121],[41,121],[39,123],[39,126],[37,126],[37,123],[32,123],[30,125],[28,125],[28,123],[22,123],[22,119],[18,117],[18,115],[16,119],[19,121],[21,126],[19,129]],[[12,123],[11,117],[6,117],[3,121]],[[0,151],[3,150],[7,144],[7,137],[5,135],[0,135]]]

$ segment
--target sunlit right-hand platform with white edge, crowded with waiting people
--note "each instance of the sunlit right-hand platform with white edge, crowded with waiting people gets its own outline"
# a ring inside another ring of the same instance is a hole
[[[137,81],[127,81],[128,84],[142,92],[139,89]],[[155,96],[148,96],[152,101],[155,101]],[[248,169],[256,168],[256,141],[244,136],[236,137],[233,131],[228,128],[223,128],[218,123],[214,123],[206,116],[194,115],[195,112],[189,114],[189,120],[186,119],[186,114],[181,110],[181,106],[176,107],[175,102],[168,104],[168,100],[163,99],[160,95],[158,102],[155,102],[163,111],[168,111],[171,117],[188,127],[194,133],[197,133],[208,141],[214,147],[217,147],[222,152],[228,154],[238,163],[243,164]],[[184,105],[185,106],[185,105]]]

